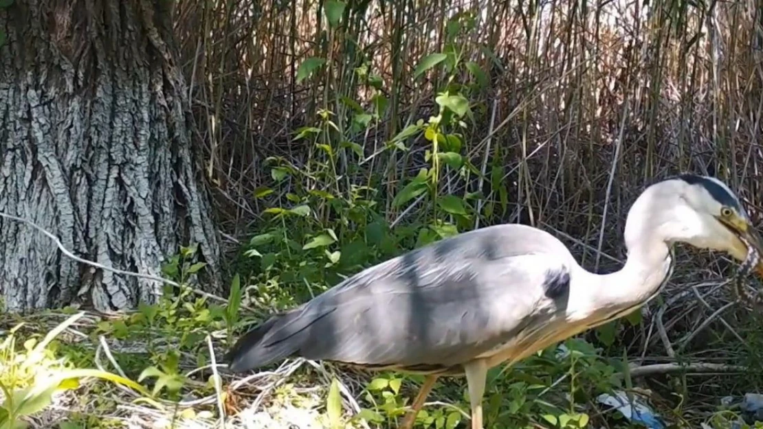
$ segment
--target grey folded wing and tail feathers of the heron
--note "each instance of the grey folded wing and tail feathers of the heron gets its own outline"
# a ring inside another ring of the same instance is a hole
[[[247,333],[229,354],[248,370],[288,356],[378,367],[452,367],[517,335],[568,292],[567,248],[521,225],[410,251]]]

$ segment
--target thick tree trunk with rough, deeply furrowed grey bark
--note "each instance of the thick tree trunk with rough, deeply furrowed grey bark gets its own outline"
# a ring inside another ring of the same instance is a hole
[[[144,274],[198,244],[216,288],[219,239],[174,61],[172,1],[16,0],[0,30],[0,211],[75,255]],[[160,290],[82,266],[0,218],[6,310],[125,309]]]

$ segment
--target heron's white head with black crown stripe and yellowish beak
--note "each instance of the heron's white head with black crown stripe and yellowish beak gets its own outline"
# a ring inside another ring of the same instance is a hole
[[[745,261],[752,250],[763,255],[763,242],[752,226],[739,198],[716,178],[684,174],[678,193],[678,220],[686,229],[682,241],[698,248],[724,251],[737,261]],[[763,261],[754,267],[763,277]]]

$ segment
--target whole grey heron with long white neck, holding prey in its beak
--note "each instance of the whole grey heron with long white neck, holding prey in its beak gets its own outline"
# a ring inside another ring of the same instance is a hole
[[[619,271],[585,270],[549,232],[488,226],[418,248],[343,280],[270,319],[227,354],[244,372],[287,357],[424,374],[402,427],[439,376],[465,376],[472,429],[482,427],[488,369],[633,312],[661,290],[672,246],[761,254],[739,198],[716,178],[681,174],[646,187],[624,231]],[[763,262],[752,267],[763,277]]]

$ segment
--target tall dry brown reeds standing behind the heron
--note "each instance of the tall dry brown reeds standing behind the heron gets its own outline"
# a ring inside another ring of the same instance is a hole
[[[508,213],[482,213],[482,225],[547,224],[617,252],[629,202],[645,184],[678,171],[715,174],[759,210],[763,97],[752,2],[350,5],[336,30],[317,21],[320,3],[309,0],[180,5],[175,25],[198,141],[227,234],[251,234],[249,222],[262,210],[253,190],[272,184],[266,158],[314,162],[311,142],[292,138],[321,108],[336,114],[342,131],[333,144],[357,142],[372,158],[360,171],[340,165],[336,174],[357,184],[378,177],[388,195],[398,192],[401,179],[423,165],[428,142],[407,142],[407,153],[372,154],[433,113],[444,76],[414,78],[413,71],[443,49],[449,18],[464,12],[475,14],[475,29],[459,46],[489,85],[470,97],[475,122],[462,153],[478,166],[501,165],[510,203]],[[298,66],[310,56],[329,66],[298,83]],[[353,133],[340,98],[370,108],[374,94],[353,73],[360,66],[381,76],[389,104],[380,120]],[[482,190],[497,200],[498,190],[475,176],[443,181],[457,194]],[[388,221],[397,215],[388,208]],[[598,265],[595,251],[578,251],[584,264]]]

